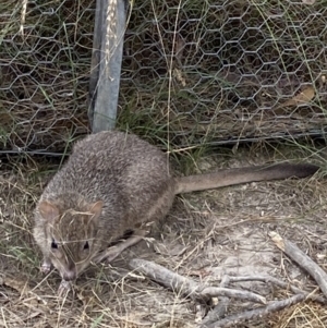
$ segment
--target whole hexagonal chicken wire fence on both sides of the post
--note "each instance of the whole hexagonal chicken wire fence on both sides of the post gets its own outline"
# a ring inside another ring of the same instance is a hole
[[[95,7],[1,1],[3,151],[89,132]],[[131,2],[117,125],[179,146],[324,135],[326,50],[326,1]]]

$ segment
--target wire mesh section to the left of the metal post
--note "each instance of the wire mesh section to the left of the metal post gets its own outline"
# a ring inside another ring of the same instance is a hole
[[[2,149],[62,151],[88,131],[94,2],[1,1]]]

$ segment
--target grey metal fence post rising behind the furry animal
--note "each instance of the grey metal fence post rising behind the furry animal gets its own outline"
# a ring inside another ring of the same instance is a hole
[[[97,0],[89,81],[93,133],[116,125],[125,23],[124,0]]]

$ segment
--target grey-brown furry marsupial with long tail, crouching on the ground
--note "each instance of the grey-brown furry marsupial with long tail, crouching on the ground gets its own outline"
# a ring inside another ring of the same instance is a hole
[[[317,170],[283,163],[173,178],[167,155],[137,136],[89,135],[73,147],[36,207],[34,238],[44,254],[43,269],[53,265],[64,280],[75,279],[124,231],[164,218],[178,193],[304,178]]]

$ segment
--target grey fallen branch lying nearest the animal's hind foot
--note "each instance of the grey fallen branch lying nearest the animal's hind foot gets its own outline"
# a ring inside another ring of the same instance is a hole
[[[148,260],[135,258],[130,260],[129,265],[132,269],[146,275],[158,283],[164,284],[165,287],[170,288],[174,291],[181,292],[182,294],[187,296],[192,295],[202,299],[208,299],[219,295],[267,304],[266,299],[258,294],[237,289],[208,287],[202,283],[197,283],[190,278],[174,274],[167,268]]]

